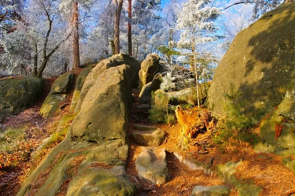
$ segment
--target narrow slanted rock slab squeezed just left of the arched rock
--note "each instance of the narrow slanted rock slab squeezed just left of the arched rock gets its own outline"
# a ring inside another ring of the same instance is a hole
[[[76,84],[75,84],[75,90],[74,90],[73,97],[72,97],[70,112],[74,112],[77,102],[79,100],[80,93],[81,93],[83,84],[85,82],[85,79],[92,69],[93,69],[93,67],[85,68],[77,77]]]

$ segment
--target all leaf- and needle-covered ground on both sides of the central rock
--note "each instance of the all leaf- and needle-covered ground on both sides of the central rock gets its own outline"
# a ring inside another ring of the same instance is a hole
[[[77,73],[80,71],[77,70]],[[63,111],[47,119],[40,116],[40,108],[54,81],[54,78],[46,80],[46,89],[43,96],[33,107],[16,115],[8,116],[6,122],[2,123],[2,132],[7,128],[17,129],[24,126],[25,131],[23,139],[16,141],[18,144],[16,148],[9,152],[0,151],[0,196],[15,196],[17,194],[31,170],[36,167],[36,163],[31,161],[33,151],[53,133],[54,122],[60,120],[62,116],[68,113],[73,92],[62,102],[63,104],[68,104]],[[137,104],[138,99],[135,99],[131,114]],[[141,180],[135,168],[135,160],[141,152],[141,146],[130,140],[126,172],[130,180],[138,187],[140,196],[189,196],[192,193],[193,187],[197,185],[226,185],[231,188],[231,196],[237,196],[236,188],[223,182],[216,172],[218,165],[225,164],[229,161],[242,162],[236,168],[236,178],[243,183],[254,183],[261,187],[263,189],[261,196],[286,196],[286,191],[295,189],[295,173],[284,167],[282,157],[272,153],[256,153],[251,144],[247,142],[219,146],[214,144],[210,139],[208,153],[199,154],[196,145],[194,145],[196,142],[194,141],[210,138],[211,134],[198,134],[191,142],[192,144],[189,146],[189,149],[183,151],[177,146],[179,130],[181,129],[179,124],[175,124],[170,128],[167,124],[150,123],[147,116],[132,114],[130,117],[130,132],[132,132],[132,124],[136,123],[156,126],[164,130],[166,140],[157,148],[166,149],[167,163],[171,174],[171,180],[162,186],[153,185]],[[52,148],[47,149],[46,153],[50,149]],[[38,162],[46,156],[46,153]],[[176,154],[181,155],[183,159],[189,158],[204,165],[214,158],[212,165],[209,167],[210,172],[189,168],[181,163]]]

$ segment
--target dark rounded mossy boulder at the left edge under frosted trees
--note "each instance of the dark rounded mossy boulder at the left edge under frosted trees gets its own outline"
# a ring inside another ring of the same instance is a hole
[[[42,79],[16,76],[0,78],[0,116],[22,112],[33,105],[43,92]]]

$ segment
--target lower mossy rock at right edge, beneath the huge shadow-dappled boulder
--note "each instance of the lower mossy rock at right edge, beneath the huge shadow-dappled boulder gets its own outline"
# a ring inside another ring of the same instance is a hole
[[[276,130],[281,134],[276,138]],[[295,155],[295,82],[286,91],[285,98],[259,127],[262,142],[256,143],[258,152],[273,152],[280,156]]]

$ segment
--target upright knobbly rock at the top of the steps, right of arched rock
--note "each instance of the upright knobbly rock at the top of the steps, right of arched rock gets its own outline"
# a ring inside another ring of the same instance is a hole
[[[147,56],[142,62],[139,75],[138,90],[141,90],[145,84],[152,81],[154,76],[159,72],[160,57],[153,53]]]

